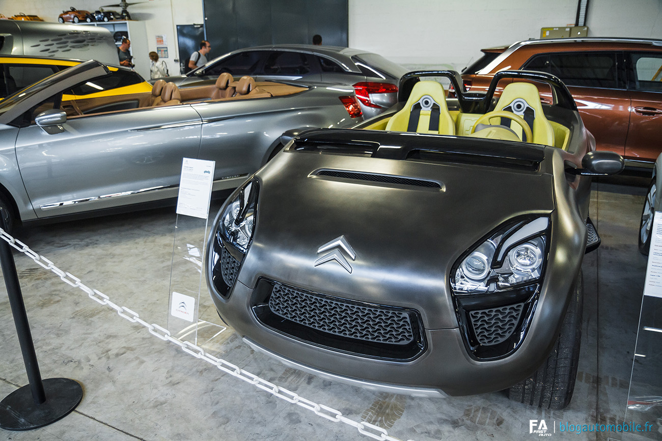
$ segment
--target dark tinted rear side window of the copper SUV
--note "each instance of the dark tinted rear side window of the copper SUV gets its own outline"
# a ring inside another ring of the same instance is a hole
[[[568,86],[618,88],[616,53],[542,54],[534,56],[522,69],[551,73]]]

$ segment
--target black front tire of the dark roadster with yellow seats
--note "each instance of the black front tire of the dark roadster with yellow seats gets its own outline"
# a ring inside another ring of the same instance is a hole
[[[544,409],[564,409],[573,397],[581,343],[584,279],[581,271],[556,343],[545,363],[508,389],[508,398]]]

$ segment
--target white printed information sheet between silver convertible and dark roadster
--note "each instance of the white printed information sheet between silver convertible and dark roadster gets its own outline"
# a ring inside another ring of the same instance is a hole
[[[214,161],[183,159],[179,196],[177,196],[177,214],[207,219],[215,165]]]

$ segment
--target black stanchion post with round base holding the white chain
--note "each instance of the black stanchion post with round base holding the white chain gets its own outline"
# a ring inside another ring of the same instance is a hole
[[[0,207],[0,227],[7,231],[5,216],[6,210]],[[42,381],[14,256],[9,244],[1,239],[0,265],[29,381],[28,385],[13,391],[0,401],[0,428],[30,430],[46,426],[68,415],[81,402],[83,388],[77,381],[69,378],[47,378]]]

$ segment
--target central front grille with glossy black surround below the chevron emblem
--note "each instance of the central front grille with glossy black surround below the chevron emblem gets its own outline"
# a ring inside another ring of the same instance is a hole
[[[408,362],[427,347],[416,309],[328,296],[265,278],[258,280],[250,304],[263,326],[328,350]]]

